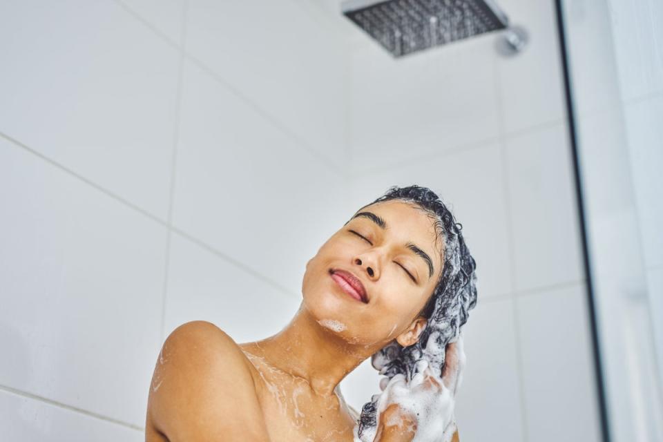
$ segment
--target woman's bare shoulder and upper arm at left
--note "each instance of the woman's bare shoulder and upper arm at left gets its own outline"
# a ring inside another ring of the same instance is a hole
[[[166,339],[152,378],[148,419],[171,442],[269,441],[241,349],[204,321]]]

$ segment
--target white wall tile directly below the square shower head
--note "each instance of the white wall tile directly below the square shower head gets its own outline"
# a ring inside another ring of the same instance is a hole
[[[491,41],[477,37],[396,60],[368,37],[355,44],[349,96],[353,173],[497,137]]]

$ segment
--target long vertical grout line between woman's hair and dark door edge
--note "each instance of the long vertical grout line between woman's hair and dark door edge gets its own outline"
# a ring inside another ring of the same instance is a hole
[[[508,155],[506,151],[506,140],[507,135],[504,130],[505,122],[503,117],[503,96],[501,90],[501,71],[499,69],[499,55],[494,55],[494,73],[495,73],[495,91],[496,99],[498,106],[498,128],[499,128],[499,157],[501,162],[502,169],[502,193],[504,195],[504,204],[506,205],[506,235],[508,243],[508,257],[511,263],[509,269],[509,276],[511,281],[511,312],[513,316],[513,329],[515,333],[515,342],[514,348],[516,352],[516,361],[517,361],[517,378],[519,386],[519,402],[521,407],[521,432],[523,432],[523,441],[527,442],[529,440],[529,425],[528,425],[528,414],[527,407],[525,402],[525,383],[523,381],[523,352],[520,343],[521,329],[518,320],[518,306],[517,306],[517,295],[515,294],[516,288],[516,271],[515,271],[515,251],[514,251],[514,233],[513,233],[513,224],[512,224],[512,201],[510,195],[510,180],[509,180],[509,167],[508,167]]]

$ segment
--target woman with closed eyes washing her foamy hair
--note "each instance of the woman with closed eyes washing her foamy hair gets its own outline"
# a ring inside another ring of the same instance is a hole
[[[307,262],[300,308],[278,334],[237,344],[204,321],[175,329],[156,363],[146,441],[411,441],[443,421],[453,434],[464,356],[450,343],[477,298],[460,229],[430,189],[392,187]],[[390,381],[360,416],[339,383],[369,356]],[[404,394],[432,398],[433,415]]]

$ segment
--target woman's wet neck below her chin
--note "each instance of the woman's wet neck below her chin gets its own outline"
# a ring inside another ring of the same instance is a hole
[[[270,365],[304,379],[319,396],[330,396],[349,372],[381,348],[381,343],[348,343],[320,325],[302,302],[284,329],[259,340],[256,346]]]

